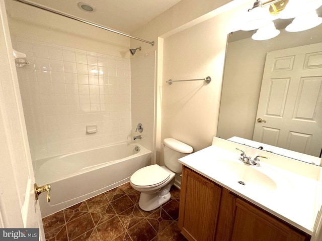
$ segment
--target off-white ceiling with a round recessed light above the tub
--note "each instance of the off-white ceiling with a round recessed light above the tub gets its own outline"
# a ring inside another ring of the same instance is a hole
[[[180,1],[181,0],[33,0],[28,2],[130,34]],[[79,2],[95,7],[96,11],[85,12],[84,10],[81,10],[77,7]]]

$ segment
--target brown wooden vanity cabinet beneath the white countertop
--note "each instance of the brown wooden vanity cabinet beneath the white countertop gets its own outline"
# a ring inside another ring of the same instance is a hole
[[[185,166],[178,224],[189,241],[309,241],[311,237]]]

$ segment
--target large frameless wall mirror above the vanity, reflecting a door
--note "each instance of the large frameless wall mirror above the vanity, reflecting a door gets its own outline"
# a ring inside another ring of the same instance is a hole
[[[322,24],[286,32],[291,21],[275,20],[281,33],[269,40],[253,40],[256,31],[229,34],[217,137],[320,157]]]

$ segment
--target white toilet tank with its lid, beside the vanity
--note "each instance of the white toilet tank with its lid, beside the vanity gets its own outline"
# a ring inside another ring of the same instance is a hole
[[[175,173],[182,172],[182,164],[178,162],[178,159],[193,152],[191,146],[173,138],[166,138],[164,140],[163,150],[166,167]]]

